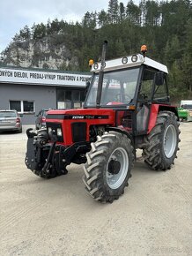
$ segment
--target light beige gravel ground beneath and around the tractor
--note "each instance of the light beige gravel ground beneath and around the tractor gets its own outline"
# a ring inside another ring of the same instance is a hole
[[[82,165],[50,180],[34,176],[24,163],[26,133],[0,133],[0,255],[191,255],[192,123],[180,127],[173,168],[156,172],[140,160],[113,204],[88,196]]]

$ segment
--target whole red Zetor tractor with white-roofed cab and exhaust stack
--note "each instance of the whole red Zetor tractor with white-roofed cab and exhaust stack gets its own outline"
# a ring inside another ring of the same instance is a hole
[[[155,170],[170,169],[178,151],[178,114],[169,102],[167,68],[141,54],[92,64],[84,109],[49,110],[47,128],[28,129],[26,166],[44,178],[84,163],[94,200],[118,200],[128,185],[137,148]]]

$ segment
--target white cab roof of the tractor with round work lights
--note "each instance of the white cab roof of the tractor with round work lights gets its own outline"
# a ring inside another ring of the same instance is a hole
[[[92,64],[91,72],[100,72],[100,64],[100,62]],[[142,54],[123,56],[120,58],[108,60],[105,62],[104,72],[125,69],[129,67],[137,67],[142,64],[157,69],[160,72],[168,73],[166,65],[160,64],[159,62],[154,61],[147,56],[143,56]]]

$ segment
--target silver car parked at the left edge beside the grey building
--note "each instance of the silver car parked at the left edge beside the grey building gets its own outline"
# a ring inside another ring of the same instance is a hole
[[[16,110],[0,110],[0,132],[22,132],[21,117]]]

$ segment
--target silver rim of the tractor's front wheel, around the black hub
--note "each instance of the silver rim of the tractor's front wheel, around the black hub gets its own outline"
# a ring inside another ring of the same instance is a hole
[[[111,172],[109,172],[109,164],[111,161],[120,163],[117,174],[112,174]],[[125,177],[127,176],[128,169],[129,169],[129,157],[126,150],[122,147],[118,147],[114,149],[113,153],[110,155],[107,162],[106,177],[107,177],[108,186],[112,189],[119,188],[122,185]]]

